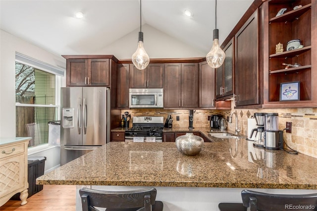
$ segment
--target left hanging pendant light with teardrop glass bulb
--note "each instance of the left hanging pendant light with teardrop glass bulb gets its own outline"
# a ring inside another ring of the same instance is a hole
[[[142,32],[142,23],[141,23],[141,0],[140,0],[140,32],[139,32],[139,41],[138,48],[135,53],[132,55],[132,62],[139,70],[145,69],[150,63],[150,57],[148,53],[143,48],[143,32]]]

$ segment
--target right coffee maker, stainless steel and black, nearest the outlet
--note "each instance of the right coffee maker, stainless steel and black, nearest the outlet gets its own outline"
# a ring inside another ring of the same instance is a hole
[[[267,150],[283,148],[283,133],[278,130],[278,113],[265,113],[264,148]]]

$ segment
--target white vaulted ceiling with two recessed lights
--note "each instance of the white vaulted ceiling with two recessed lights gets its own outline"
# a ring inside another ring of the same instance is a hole
[[[252,2],[217,0],[220,43]],[[185,9],[193,16],[185,16]],[[82,19],[74,17],[77,11],[84,13]],[[208,53],[215,0],[142,0],[142,26],[146,25]],[[0,0],[0,28],[58,55],[93,54],[139,31],[140,0]]]

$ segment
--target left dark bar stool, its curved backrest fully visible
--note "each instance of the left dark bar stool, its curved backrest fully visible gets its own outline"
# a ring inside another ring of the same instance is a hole
[[[163,210],[163,203],[155,201],[157,195],[155,188],[133,191],[100,191],[81,188],[79,195],[83,211],[98,211],[96,207],[106,208],[106,211]]]

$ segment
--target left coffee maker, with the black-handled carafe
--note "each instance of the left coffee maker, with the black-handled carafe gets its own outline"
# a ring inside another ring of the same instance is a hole
[[[252,130],[250,138],[253,136],[254,131],[256,131],[256,137],[253,142],[253,146],[255,147],[264,147],[264,117],[265,113],[254,113],[258,128]]]

